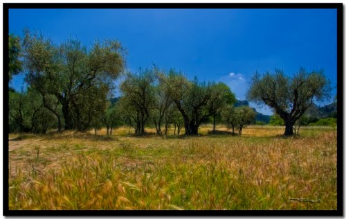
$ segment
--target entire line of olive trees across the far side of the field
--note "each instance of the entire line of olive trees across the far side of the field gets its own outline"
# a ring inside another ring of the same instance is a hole
[[[234,107],[235,94],[223,82],[189,80],[176,69],[152,67],[130,72],[127,51],[117,40],[96,40],[84,46],[78,39],[54,44],[44,35],[24,30],[23,39],[9,35],[9,80],[24,73],[26,91],[9,90],[10,132],[46,133],[49,129],[95,130],[107,134],[129,125],[136,134],[152,126],[159,135],[185,130],[199,134],[202,123],[221,122],[242,134],[255,121],[250,107]],[[113,98],[114,81],[123,77],[121,96]],[[283,119],[284,134],[293,134],[313,100],[329,95],[329,81],[322,71],[300,69],[293,78],[282,71],[255,73],[247,97],[265,103]]]

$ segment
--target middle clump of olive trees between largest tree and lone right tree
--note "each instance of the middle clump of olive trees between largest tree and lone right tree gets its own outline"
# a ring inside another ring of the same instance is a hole
[[[152,67],[139,73],[128,73],[120,85],[121,105],[125,106],[129,120],[136,124],[138,134],[145,132],[147,121],[152,119],[157,134],[162,126],[175,124],[185,128],[185,134],[198,134],[201,123],[216,117],[226,105],[235,103],[235,95],[222,82],[188,80],[183,73],[169,72]]]

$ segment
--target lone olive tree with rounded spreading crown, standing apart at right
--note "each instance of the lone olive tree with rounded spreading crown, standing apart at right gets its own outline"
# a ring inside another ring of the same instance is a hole
[[[284,120],[284,135],[293,135],[293,125],[313,104],[330,95],[330,82],[323,71],[307,73],[300,69],[293,77],[276,69],[275,73],[255,73],[251,78],[247,98],[264,103]]]

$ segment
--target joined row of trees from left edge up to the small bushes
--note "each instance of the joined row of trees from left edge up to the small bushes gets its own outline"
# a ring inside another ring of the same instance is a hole
[[[144,134],[150,124],[157,134],[164,134],[172,124],[178,134],[183,127],[185,134],[198,134],[199,125],[210,118],[215,130],[221,109],[235,102],[224,83],[188,80],[174,69],[166,73],[153,66],[125,73],[122,96],[110,103],[113,81],[125,71],[125,50],[119,42],[95,42],[88,49],[79,40],[56,45],[29,30],[24,36],[19,44],[10,35],[17,44],[10,44],[15,48],[10,62],[17,67],[9,76],[23,70],[28,84],[25,93],[10,92],[10,130],[44,133],[55,121],[58,131],[63,126],[78,131],[104,126],[111,133],[125,123],[136,134]]]

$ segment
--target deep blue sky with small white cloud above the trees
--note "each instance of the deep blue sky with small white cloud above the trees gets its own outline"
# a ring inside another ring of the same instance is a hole
[[[130,71],[174,67],[225,82],[241,100],[255,71],[275,68],[287,75],[324,69],[336,87],[335,9],[11,9],[9,22],[10,33],[36,29],[57,44],[70,36],[86,45],[118,39]],[[11,86],[24,87],[23,76]]]

